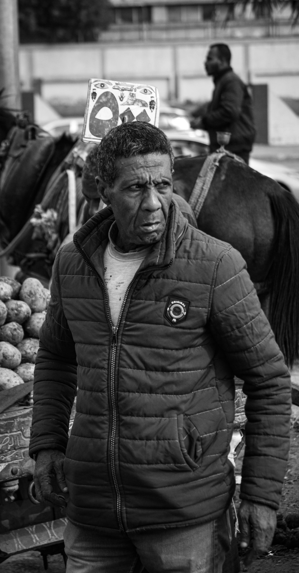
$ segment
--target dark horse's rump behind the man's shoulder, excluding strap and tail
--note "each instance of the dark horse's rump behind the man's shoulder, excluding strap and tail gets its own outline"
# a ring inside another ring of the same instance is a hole
[[[174,192],[188,202],[206,156],[179,159],[173,175]],[[275,222],[270,188],[281,193],[271,179],[225,156],[197,219],[198,228],[241,252],[253,282],[263,282],[272,264]]]

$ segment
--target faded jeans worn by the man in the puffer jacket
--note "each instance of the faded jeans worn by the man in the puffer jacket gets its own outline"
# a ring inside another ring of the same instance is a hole
[[[68,521],[66,573],[221,573],[233,532],[229,511],[218,519],[142,533],[106,535]]]

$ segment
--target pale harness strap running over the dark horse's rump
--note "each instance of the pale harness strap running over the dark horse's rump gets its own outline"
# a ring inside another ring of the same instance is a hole
[[[203,163],[202,168],[199,171],[197,179],[195,181],[194,188],[189,198],[189,205],[194,212],[195,218],[197,219],[200,211],[202,210],[203,203],[207,197],[208,191],[210,190],[211,183],[213,181],[215,171],[219,167],[219,161],[224,155],[228,155],[237,161],[244,163],[241,157],[230,153],[226,150],[218,150],[207,156]]]

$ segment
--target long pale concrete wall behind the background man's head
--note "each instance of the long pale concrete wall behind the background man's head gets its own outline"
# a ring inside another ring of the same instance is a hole
[[[233,68],[243,80],[299,98],[299,37],[234,40],[230,48]],[[207,49],[207,42],[23,45],[22,87],[30,89],[40,79],[46,100],[72,101],[85,99],[88,79],[99,77],[154,83],[162,99],[207,100],[213,89],[203,68]]]

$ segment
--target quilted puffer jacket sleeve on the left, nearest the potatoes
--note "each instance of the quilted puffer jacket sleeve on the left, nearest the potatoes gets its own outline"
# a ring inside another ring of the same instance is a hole
[[[41,449],[53,448],[65,453],[77,389],[76,352],[61,305],[59,261],[60,251],[54,262],[51,299],[40,329],[34,369],[30,457]]]

